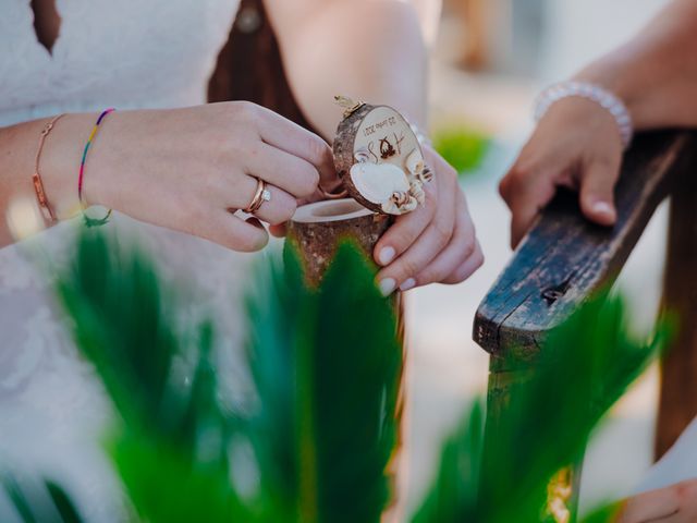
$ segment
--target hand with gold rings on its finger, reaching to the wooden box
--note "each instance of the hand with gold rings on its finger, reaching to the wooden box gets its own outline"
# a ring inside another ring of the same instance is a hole
[[[289,220],[320,175],[335,177],[323,139],[259,106],[225,102],[110,114],[87,157],[85,195],[89,204],[249,252],[268,242],[259,220]],[[244,221],[233,212],[249,206],[257,179],[271,199],[258,220]]]

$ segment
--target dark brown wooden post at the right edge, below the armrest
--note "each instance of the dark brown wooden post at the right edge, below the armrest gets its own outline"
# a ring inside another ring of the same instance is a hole
[[[687,169],[671,197],[663,306],[678,331],[662,362],[656,433],[661,458],[697,416],[697,172]]]

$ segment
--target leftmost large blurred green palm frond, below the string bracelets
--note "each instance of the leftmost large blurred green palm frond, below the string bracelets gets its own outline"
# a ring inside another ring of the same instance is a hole
[[[123,418],[108,449],[136,512],[151,522],[233,521],[241,507],[229,482],[212,325],[184,320],[147,256],[93,230],[58,291],[77,346]],[[194,363],[174,372],[175,358]]]

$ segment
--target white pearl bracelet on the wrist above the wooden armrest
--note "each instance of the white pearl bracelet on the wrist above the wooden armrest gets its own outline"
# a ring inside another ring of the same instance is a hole
[[[629,148],[634,138],[634,122],[629,110],[617,96],[596,84],[562,82],[548,87],[537,98],[535,121],[539,122],[554,104],[570,97],[586,98],[606,109],[617,124],[625,150]]]

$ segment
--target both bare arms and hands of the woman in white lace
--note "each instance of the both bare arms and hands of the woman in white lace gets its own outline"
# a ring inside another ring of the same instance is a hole
[[[334,134],[341,110],[333,95],[341,93],[387,101],[424,123],[427,53],[414,5],[399,0],[267,1],[291,85],[322,134]],[[65,216],[60,209],[76,207],[78,158],[94,119],[70,114],[47,141],[41,174],[60,217]],[[3,216],[10,199],[33,197],[27,181],[44,123],[0,134]],[[401,217],[376,248],[383,266],[378,282],[386,294],[432,282],[458,283],[482,263],[455,171],[428,148],[426,160],[436,172],[427,204]],[[320,179],[335,182],[323,141],[244,102],[110,114],[86,170],[90,204],[237,251],[262,248],[268,236],[260,222],[282,224],[298,200],[316,192]],[[257,179],[270,184],[271,199],[255,212],[260,222],[242,221],[230,210],[248,206]],[[11,241],[2,227],[0,246]]]

